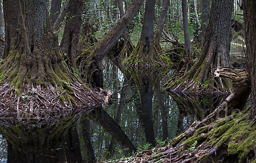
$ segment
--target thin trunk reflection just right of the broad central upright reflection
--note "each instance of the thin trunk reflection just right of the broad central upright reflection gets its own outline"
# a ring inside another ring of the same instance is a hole
[[[154,90],[157,96],[157,103],[161,110],[161,116],[162,116],[162,127],[163,127],[163,141],[166,140],[168,137],[168,124],[167,124],[167,114],[166,114],[166,107],[163,103],[163,95],[161,91],[160,81],[157,79],[157,81],[154,84]]]

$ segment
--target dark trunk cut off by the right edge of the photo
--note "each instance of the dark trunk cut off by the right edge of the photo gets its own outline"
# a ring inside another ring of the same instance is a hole
[[[243,0],[244,22],[245,22],[245,43],[247,50],[248,70],[252,84],[252,118],[256,115],[256,1]]]

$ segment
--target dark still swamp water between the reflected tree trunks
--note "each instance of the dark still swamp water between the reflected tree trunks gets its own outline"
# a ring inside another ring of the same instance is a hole
[[[132,90],[129,91],[126,99],[132,100],[125,103],[125,107],[122,110],[120,126],[134,146],[136,146],[136,148],[142,148],[146,143],[145,134],[140,123],[140,116],[136,111],[137,103],[140,99],[138,95],[134,96]],[[164,103],[167,108],[169,139],[183,132],[195,120],[202,120],[212,112],[223,99],[224,96],[202,97],[183,93],[165,93]],[[117,110],[113,109],[116,105],[118,105],[118,99],[113,100],[111,107],[104,108],[112,118],[115,118],[117,112]],[[163,137],[162,118],[160,114],[156,99],[153,98],[154,134],[155,138],[157,138],[157,143],[161,143]],[[1,119],[0,163],[7,163],[7,159],[13,160],[16,156],[27,156],[27,160],[23,160],[23,162],[28,160],[32,160],[32,162],[36,160],[36,162],[42,163],[58,162],[58,159],[65,157],[64,135],[68,128],[74,126],[77,128],[80,139],[81,156],[83,159],[86,159],[87,147],[86,139],[83,135],[84,125],[81,123],[81,119],[76,121],[76,118],[73,116],[73,119],[66,121],[55,121],[52,123],[42,122],[41,125],[38,125],[37,122],[37,126],[33,126],[33,123],[35,122],[30,120],[12,123],[12,121]],[[108,157],[107,151],[111,142],[111,135],[93,121],[90,121],[89,125],[94,154],[99,160],[104,160]],[[115,148],[116,150],[112,155],[113,159],[122,156],[122,153],[125,154],[125,150],[123,150],[119,143],[114,144],[114,149]]]

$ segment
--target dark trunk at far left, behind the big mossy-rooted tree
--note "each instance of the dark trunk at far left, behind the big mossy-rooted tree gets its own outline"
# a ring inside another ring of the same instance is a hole
[[[13,9],[15,8],[15,9]],[[3,0],[3,16],[5,28],[5,46],[2,59],[5,59],[11,51],[18,36],[19,14],[16,0]],[[12,11],[12,12],[10,12]]]

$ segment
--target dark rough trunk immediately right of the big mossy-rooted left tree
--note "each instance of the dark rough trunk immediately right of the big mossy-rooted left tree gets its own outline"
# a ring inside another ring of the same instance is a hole
[[[83,0],[71,0],[68,20],[65,25],[60,48],[67,54],[67,65],[76,70],[76,53],[82,23]]]

